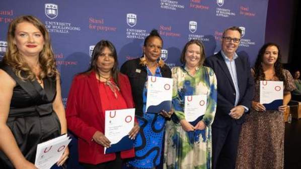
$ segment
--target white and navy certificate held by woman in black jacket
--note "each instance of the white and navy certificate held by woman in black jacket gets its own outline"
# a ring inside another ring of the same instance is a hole
[[[146,112],[160,113],[172,107],[173,79],[148,76]]]

